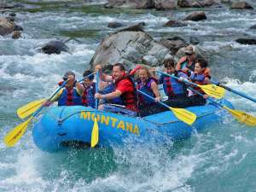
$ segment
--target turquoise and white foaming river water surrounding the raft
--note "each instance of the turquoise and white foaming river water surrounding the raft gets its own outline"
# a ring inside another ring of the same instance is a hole
[[[108,22],[144,21],[154,38],[190,36],[209,53],[212,77],[249,96],[256,95],[256,46],[236,38],[254,37],[256,10],[204,9],[207,20],[166,28],[197,9],[175,11],[103,9],[102,5],[16,1],[22,38],[0,37],[0,138],[21,123],[16,109],[49,96],[63,73],[81,78],[101,39],[113,32]],[[256,3],[252,3],[256,8]],[[5,13],[0,14],[0,16]],[[44,55],[37,48],[53,39],[76,38],[72,54]],[[256,115],[256,104],[227,93],[237,109]],[[256,129],[227,116],[189,139],[163,146],[150,143],[49,154],[32,142],[32,126],[15,145],[0,143],[0,191],[256,191]]]

